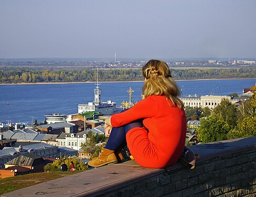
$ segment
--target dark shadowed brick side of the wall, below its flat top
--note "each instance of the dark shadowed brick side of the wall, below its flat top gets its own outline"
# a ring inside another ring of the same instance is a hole
[[[256,151],[212,158],[192,170],[167,170],[100,196],[256,196]]]

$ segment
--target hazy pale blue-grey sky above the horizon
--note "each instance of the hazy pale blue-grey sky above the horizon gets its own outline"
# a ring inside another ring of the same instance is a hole
[[[256,58],[254,0],[0,0],[0,58]]]

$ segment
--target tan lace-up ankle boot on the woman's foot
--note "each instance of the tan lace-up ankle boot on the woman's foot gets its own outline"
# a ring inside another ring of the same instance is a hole
[[[97,168],[110,163],[117,163],[117,157],[114,150],[108,150],[104,147],[101,149],[99,157],[88,162],[91,167]]]

